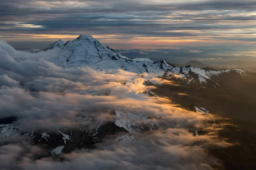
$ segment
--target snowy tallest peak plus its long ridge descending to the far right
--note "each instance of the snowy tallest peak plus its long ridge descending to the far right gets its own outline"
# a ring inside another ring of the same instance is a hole
[[[150,73],[155,76],[163,76],[164,73],[169,75],[179,83],[199,82],[201,88],[212,84],[212,87],[219,87],[217,83],[218,76],[225,73],[234,72],[240,76],[246,76],[247,71],[243,69],[209,69],[196,68],[191,65],[176,67],[174,64],[164,60],[155,61],[148,58],[131,59],[114,51],[110,47],[105,47],[90,35],[80,35],[75,40],[69,40],[66,43],[56,42],[50,45],[53,48],[61,48],[60,57],[52,60],[55,65],[63,68],[91,67],[100,71],[109,71],[111,69],[122,69],[137,74]],[[111,50],[112,49],[112,50]],[[195,61],[191,61],[195,63]],[[196,62],[198,63],[198,62]],[[193,80],[193,81],[192,81]]]

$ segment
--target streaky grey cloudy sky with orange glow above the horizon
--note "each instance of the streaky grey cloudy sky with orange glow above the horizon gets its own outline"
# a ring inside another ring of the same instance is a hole
[[[115,49],[255,45],[255,0],[0,0],[0,39],[44,48],[90,34]]]

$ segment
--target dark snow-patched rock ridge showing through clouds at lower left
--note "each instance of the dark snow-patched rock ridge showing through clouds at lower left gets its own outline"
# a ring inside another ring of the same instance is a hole
[[[41,146],[45,150],[49,151],[49,154],[58,155],[60,153],[69,153],[76,149],[86,148],[93,149],[94,144],[103,142],[107,136],[117,135],[120,132],[127,133],[127,131],[115,125],[114,122],[97,122],[98,127],[96,129],[88,129],[87,127],[76,128],[61,128],[55,132],[20,132],[15,133],[19,129],[15,127],[9,127],[13,131],[11,136],[27,136],[32,144]],[[0,125],[0,133],[4,127],[8,127],[8,124]],[[2,137],[11,137],[2,136]],[[61,147],[61,149],[55,150],[55,148]],[[57,152],[58,151],[58,152]]]

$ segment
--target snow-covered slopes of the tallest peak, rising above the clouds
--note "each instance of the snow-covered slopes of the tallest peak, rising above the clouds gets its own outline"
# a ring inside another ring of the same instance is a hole
[[[153,62],[148,58],[131,59],[122,54],[104,47],[90,35],[80,35],[76,40],[67,41],[64,45],[58,41],[50,45],[52,48],[61,48],[59,57],[52,60],[55,65],[63,68],[86,67],[108,71],[123,69],[134,73],[160,73],[172,68],[166,62]]]

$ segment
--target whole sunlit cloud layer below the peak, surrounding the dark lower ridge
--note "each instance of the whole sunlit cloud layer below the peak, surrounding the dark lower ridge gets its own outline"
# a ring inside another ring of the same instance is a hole
[[[48,156],[47,150],[28,143],[26,138],[5,138],[0,141],[1,168],[221,168],[208,153],[209,147],[230,145],[217,136],[219,125],[207,122],[207,117],[200,113],[173,105],[169,99],[142,93],[155,88],[144,85],[147,79],[158,84],[169,82],[123,70],[63,69],[47,61],[57,56],[58,51],[53,50],[36,54],[16,51],[0,41],[0,119],[16,116],[15,126],[24,131],[54,131],[60,127],[76,128],[78,123],[73,120],[79,116],[114,122],[116,116],[109,111],[120,110],[148,116],[161,128],[142,133],[134,141],[116,142],[116,134],[95,150],[77,150],[59,157]],[[136,123],[143,124],[140,120]],[[93,124],[79,122],[88,128],[93,128]],[[195,136],[194,130],[204,134]]]

